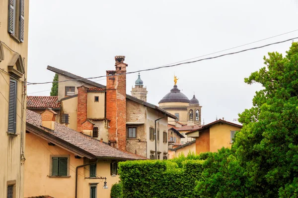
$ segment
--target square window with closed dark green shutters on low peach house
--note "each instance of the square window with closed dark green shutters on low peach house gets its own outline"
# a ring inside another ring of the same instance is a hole
[[[68,157],[52,157],[52,176],[68,175]]]

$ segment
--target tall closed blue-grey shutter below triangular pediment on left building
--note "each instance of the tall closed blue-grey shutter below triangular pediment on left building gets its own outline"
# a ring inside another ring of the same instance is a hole
[[[16,80],[10,79],[8,106],[8,133],[15,133],[16,126]]]

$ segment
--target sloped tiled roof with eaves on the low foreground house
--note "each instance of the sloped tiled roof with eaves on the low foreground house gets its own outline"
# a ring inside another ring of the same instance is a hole
[[[27,110],[26,113],[26,130],[36,133],[54,144],[57,142],[73,149],[88,158],[147,159],[143,156],[108,146],[58,122],[55,122],[54,131],[46,129],[41,126],[41,115],[31,110]]]

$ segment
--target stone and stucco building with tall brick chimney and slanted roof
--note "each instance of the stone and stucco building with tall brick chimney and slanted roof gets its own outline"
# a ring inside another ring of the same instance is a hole
[[[176,117],[144,101],[144,96],[138,99],[126,94],[128,65],[124,59],[125,56],[116,56],[115,70],[106,71],[107,86],[48,66],[48,70],[58,74],[59,81],[74,80],[59,82],[59,122],[113,147],[153,159],[155,120],[162,118],[156,121],[156,158],[167,159],[168,119]],[[136,87],[146,91],[140,76]]]

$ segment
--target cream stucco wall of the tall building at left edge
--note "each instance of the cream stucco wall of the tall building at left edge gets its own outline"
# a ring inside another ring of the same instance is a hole
[[[8,98],[9,98],[9,79],[10,75],[0,70],[0,92],[3,96],[0,96],[0,198],[7,197],[7,181],[15,180],[15,195],[16,197],[23,198],[23,167],[24,160],[20,160],[21,143],[25,140],[21,140],[22,132],[25,133],[25,124],[21,128],[22,117],[22,89],[24,78],[27,76],[27,60],[28,60],[28,18],[29,18],[29,0],[25,0],[24,5],[24,42],[17,43],[12,39],[7,32],[7,16],[8,16],[8,0],[0,0],[0,45],[3,49],[4,59],[0,61],[0,68],[5,72],[8,72],[8,63],[16,51],[24,58],[24,70],[25,75],[17,82],[17,105],[16,105],[16,135],[8,136]],[[10,49],[8,49],[5,43]],[[14,69],[16,66],[14,65]],[[6,83],[7,82],[7,83]],[[26,107],[26,99],[23,103]],[[26,120],[26,112],[23,112],[23,122]],[[24,148],[24,147],[23,147]],[[26,155],[26,154],[25,154]]]

